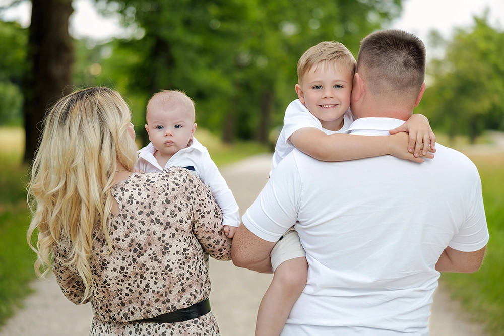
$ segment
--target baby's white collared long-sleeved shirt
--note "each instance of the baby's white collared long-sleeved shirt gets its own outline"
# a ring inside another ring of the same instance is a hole
[[[235,227],[240,225],[238,204],[231,189],[210,158],[207,148],[196,138],[193,138],[191,146],[182,148],[173,154],[164,167],[161,167],[154,157],[155,151],[152,143],[139,150],[135,169],[143,170],[146,173],[159,172],[169,167],[184,167],[191,170],[212,190],[212,195],[222,210],[223,225]]]

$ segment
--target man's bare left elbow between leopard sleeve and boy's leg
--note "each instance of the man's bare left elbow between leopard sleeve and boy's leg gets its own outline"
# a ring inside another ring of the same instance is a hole
[[[270,252],[275,242],[269,242],[251,233],[243,224],[234,234],[231,255],[235,266],[259,273],[272,273]]]

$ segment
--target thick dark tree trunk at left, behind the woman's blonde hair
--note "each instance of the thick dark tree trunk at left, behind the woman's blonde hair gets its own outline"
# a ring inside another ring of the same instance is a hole
[[[48,108],[72,92],[73,40],[68,33],[72,0],[32,0],[25,74],[24,162],[33,160]]]

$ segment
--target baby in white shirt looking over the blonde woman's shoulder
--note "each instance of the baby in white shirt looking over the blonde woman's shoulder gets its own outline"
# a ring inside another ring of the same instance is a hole
[[[224,232],[234,236],[240,224],[233,193],[210,158],[206,147],[196,140],[194,102],[180,91],[161,91],[147,103],[145,129],[149,145],[139,151],[135,169],[146,173],[168,167],[191,170],[208,185],[224,217]]]

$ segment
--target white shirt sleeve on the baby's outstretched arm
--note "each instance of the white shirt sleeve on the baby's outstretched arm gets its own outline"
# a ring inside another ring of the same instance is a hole
[[[201,167],[200,178],[210,187],[212,195],[222,210],[222,225],[238,227],[240,225],[238,204],[207,150],[202,153]]]

